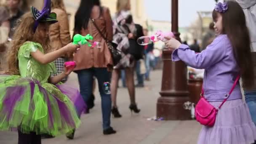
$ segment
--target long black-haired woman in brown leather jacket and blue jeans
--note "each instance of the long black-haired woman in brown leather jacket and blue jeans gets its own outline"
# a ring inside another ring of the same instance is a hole
[[[106,41],[101,37],[101,33],[107,37],[107,40],[112,40],[112,20],[109,9],[101,7],[99,0],[81,0],[75,14],[74,34],[91,34],[94,41],[101,43],[101,48],[81,45],[80,51],[74,54],[74,60],[77,62],[75,72],[77,72],[78,76],[80,93],[87,105],[92,93],[93,76],[98,80],[101,95],[103,133],[106,135],[116,133],[116,131],[110,126],[111,94],[109,93],[109,86],[104,86],[104,83],[110,82],[108,68],[112,67],[112,58]]]

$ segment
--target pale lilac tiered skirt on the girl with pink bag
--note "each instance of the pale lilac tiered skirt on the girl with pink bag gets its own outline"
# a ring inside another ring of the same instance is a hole
[[[222,101],[210,102],[219,107]],[[213,127],[203,126],[197,144],[253,144],[256,126],[242,99],[226,101]]]

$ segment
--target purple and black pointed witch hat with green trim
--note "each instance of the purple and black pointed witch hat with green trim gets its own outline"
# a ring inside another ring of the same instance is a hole
[[[51,24],[58,22],[56,13],[51,13],[51,0],[44,0],[42,11],[38,11],[37,8],[32,6],[31,13],[35,19],[34,32],[39,22],[50,22]]]

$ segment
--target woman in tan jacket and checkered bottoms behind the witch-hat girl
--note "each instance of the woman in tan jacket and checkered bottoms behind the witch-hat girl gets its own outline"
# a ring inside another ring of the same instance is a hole
[[[51,51],[56,51],[59,48],[70,43],[70,33],[69,33],[69,21],[68,15],[63,3],[63,0],[51,0],[51,9],[52,12],[57,14],[58,22],[50,26],[49,38],[51,41]],[[54,61],[57,69],[57,73],[54,75],[59,75],[64,71],[64,62],[67,61],[67,55],[61,56],[60,58]],[[66,82],[67,77],[62,80]]]

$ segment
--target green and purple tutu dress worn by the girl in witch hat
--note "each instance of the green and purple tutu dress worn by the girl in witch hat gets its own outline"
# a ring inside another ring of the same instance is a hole
[[[56,68],[36,61],[30,52],[37,50],[43,53],[39,43],[24,43],[18,52],[20,75],[0,75],[0,130],[65,134],[80,125],[86,106],[77,89],[48,83]]]

